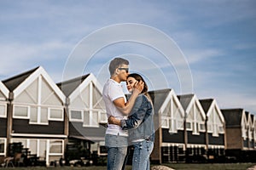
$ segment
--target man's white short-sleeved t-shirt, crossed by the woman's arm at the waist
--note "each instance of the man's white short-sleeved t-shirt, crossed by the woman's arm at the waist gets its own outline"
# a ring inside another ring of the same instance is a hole
[[[115,82],[113,79],[108,79],[108,82],[105,83],[102,98],[106,105],[107,116],[114,116],[119,120],[127,119],[127,116],[124,116],[121,111],[113,104],[113,100],[124,98],[126,103],[125,94],[123,92],[122,85],[119,82]],[[128,136],[128,132],[122,130],[118,125],[108,124],[106,131],[107,134]]]

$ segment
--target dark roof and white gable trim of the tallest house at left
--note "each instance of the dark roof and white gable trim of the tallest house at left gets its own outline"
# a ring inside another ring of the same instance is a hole
[[[26,71],[21,73],[15,77],[11,77],[7,80],[4,80],[3,83],[7,88],[9,88],[10,92],[14,93],[14,99],[18,96],[23,90],[25,90],[33,81],[36,80],[40,75],[44,77],[46,82],[49,83],[49,86],[55,91],[57,96],[61,99],[64,104],[66,101],[65,95],[61,92],[60,88],[55,85],[55,82],[49,77],[44,68],[39,66],[30,71]]]

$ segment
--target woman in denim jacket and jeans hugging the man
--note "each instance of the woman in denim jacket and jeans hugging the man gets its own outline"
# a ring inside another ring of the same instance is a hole
[[[138,95],[128,119],[119,120],[110,116],[108,123],[129,130],[129,141],[134,146],[132,169],[149,170],[149,156],[154,147],[154,110],[148,95],[148,86],[143,77],[136,73],[127,77],[126,85],[128,91],[132,93],[134,85],[139,81],[144,82],[144,88],[142,93]]]

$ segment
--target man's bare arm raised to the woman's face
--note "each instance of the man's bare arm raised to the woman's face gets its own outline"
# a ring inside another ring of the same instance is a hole
[[[125,99],[119,98],[113,100],[113,104],[121,111],[124,115],[129,115],[131,112],[131,109],[135,103],[135,100],[139,94],[143,91],[144,88],[144,82],[140,81],[138,82],[131,94],[131,98],[128,100],[128,102],[125,103]]]

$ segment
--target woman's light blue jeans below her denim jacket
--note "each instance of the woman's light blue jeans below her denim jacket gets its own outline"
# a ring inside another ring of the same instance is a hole
[[[154,148],[154,142],[143,140],[133,144],[132,170],[149,170],[149,156]]]

